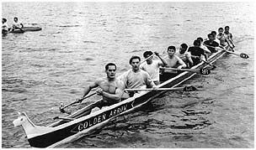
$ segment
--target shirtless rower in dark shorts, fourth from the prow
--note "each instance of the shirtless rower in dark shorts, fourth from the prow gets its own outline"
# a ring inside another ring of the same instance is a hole
[[[182,69],[186,68],[187,65],[184,63],[182,59],[179,58],[175,54],[176,48],[175,46],[169,46],[167,49],[168,55],[164,57],[165,61],[167,62],[167,68],[177,68]],[[173,78],[175,75],[177,75],[179,72],[177,70],[164,70],[162,71],[161,75],[161,81],[168,80]]]

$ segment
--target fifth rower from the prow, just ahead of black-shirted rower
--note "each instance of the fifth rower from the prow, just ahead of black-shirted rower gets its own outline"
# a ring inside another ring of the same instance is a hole
[[[187,68],[191,68],[193,66],[193,60],[191,58],[191,54],[188,53],[188,45],[187,44],[180,44],[179,51],[176,55],[184,61],[187,65]]]

